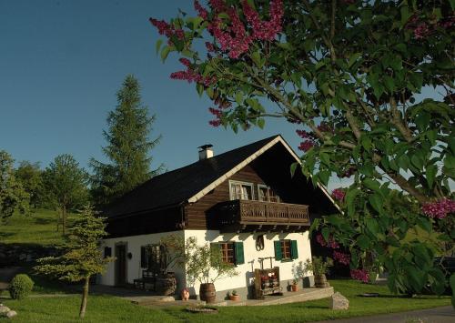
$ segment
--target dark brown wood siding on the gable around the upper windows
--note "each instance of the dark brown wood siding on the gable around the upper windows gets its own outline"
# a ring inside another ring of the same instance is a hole
[[[248,182],[254,185],[254,198],[258,199],[258,184],[265,185],[264,180],[258,176],[253,167],[247,165],[240,169],[232,177],[229,177],[205,197],[199,199],[196,203],[186,207],[186,225],[190,229],[206,229],[210,226],[207,224],[207,211],[219,202],[228,201],[229,197],[229,180],[239,182]]]

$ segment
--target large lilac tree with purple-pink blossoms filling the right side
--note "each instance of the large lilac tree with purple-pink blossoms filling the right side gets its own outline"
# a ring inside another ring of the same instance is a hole
[[[339,215],[315,221],[349,248],[354,277],[385,267],[393,291],[440,293],[433,263],[453,251],[453,1],[209,0],[196,16],[150,19],[166,60],[214,106],[212,126],[298,126],[297,167],[335,191]],[[422,89],[434,95],[422,97]],[[434,238],[437,237],[437,238]],[[339,252],[339,251],[338,251]],[[359,271],[360,270],[360,271]],[[452,282],[455,278],[452,277]]]

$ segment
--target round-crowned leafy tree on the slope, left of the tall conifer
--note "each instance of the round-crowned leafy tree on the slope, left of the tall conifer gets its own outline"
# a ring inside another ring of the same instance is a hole
[[[65,235],[67,212],[82,207],[88,200],[88,174],[73,156],[59,155],[45,168],[44,183],[47,200],[61,213],[57,230],[61,221]]]

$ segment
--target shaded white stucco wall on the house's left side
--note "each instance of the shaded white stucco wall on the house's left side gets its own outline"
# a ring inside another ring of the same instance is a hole
[[[103,240],[101,248],[111,247],[112,248],[112,257],[115,257],[116,244],[123,242],[126,243],[126,254],[131,252],[133,257],[131,259],[126,258],[126,279],[127,282],[133,284],[134,279],[142,277],[142,268],[140,267],[141,262],[141,247],[149,244],[157,244],[161,237],[167,235],[179,235],[183,236],[183,231],[174,231],[174,232],[163,232],[155,233],[150,235],[141,235],[141,236],[132,236],[132,237],[115,237],[110,239]],[[107,265],[106,273],[100,276],[98,282],[103,285],[113,286],[116,284],[115,281],[115,262],[111,262]],[[180,268],[173,269],[176,272],[178,285],[185,285],[185,275],[183,270]]]

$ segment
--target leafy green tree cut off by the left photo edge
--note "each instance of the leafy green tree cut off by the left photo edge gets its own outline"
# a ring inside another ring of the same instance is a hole
[[[15,210],[28,213],[29,195],[15,177],[14,159],[0,150],[0,220],[11,217]]]

